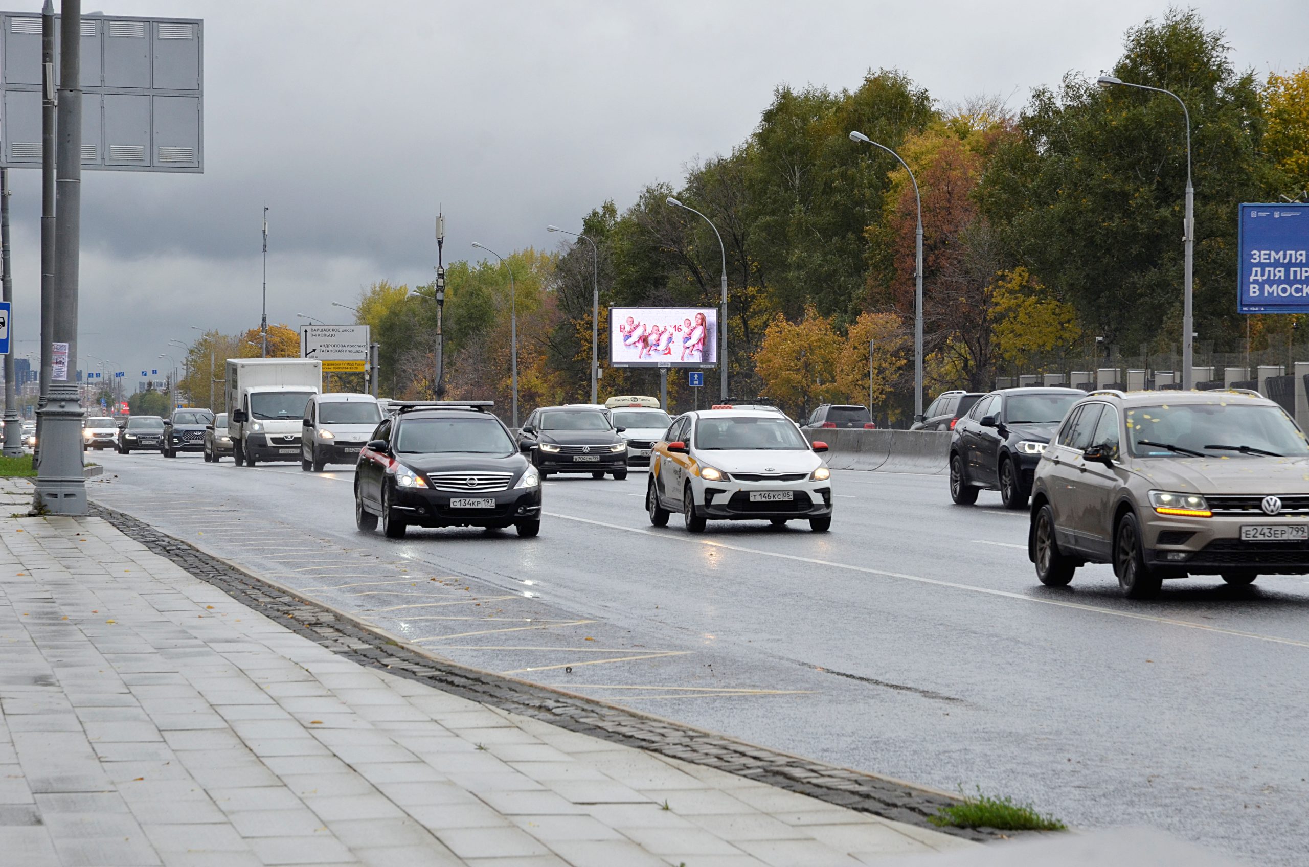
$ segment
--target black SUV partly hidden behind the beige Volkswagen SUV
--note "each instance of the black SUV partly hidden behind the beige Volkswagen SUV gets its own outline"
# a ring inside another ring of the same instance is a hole
[[[950,440],[950,498],[971,506],[978,490],[999,490],[1005,508],[1020,509],[1055,428],[1081,389],[1017,388],[983,396],[954,424]]]

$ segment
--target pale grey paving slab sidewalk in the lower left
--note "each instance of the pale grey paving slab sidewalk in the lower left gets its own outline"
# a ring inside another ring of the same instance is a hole
[[[0,519],[0,862],[826,867],[970,846],[364,668],[99,519]]]

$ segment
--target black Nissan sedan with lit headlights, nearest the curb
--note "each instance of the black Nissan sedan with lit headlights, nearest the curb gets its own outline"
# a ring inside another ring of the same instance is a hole
[[[541,532],[541,473],[490,401],[391,401],[359,452],[355,523],[402,538],[415,526]]]

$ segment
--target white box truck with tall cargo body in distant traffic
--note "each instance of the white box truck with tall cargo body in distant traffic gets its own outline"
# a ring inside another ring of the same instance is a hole
[[[237,466],[298,461],[305,405],[322,381],[322,361],[313,359],[228,359],[228,435]]]

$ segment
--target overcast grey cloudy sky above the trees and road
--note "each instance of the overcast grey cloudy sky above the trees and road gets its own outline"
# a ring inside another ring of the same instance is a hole
[[[1304,0],[1194,5],[1227,30],[1238,67],[1309,64]],[[1069,69],[1109,68],[1123,31],[1166,8],[84,0],[85,12],[204,20],[204,174],[84,173],[80,351],[135,384],[192,325],[257,326],[263,204],[270,322],[344,322],[331,301],[353,304],[382,278],[431,279],[439,206],[446,261],[471,241],[551,248],[547,223],[576,229],[605,199],[624,208],[641,185],[678,183],[695,157],[729,151],[778,84],[855,88],[895,67],[939,102],[984,92],[1020,107]],[[38,174],[10,173],[16,337],[33,356]]]

